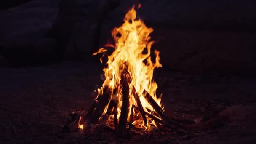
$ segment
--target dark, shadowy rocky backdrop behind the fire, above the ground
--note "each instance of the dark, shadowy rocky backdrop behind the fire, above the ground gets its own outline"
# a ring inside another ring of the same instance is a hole
[[[253,73],[253,0],[141,0],[139,17],[155,31],[163,69],[193,73]],[[121,0],[9,0],[1,2],[0,66],[95,61],[134,3]]]

